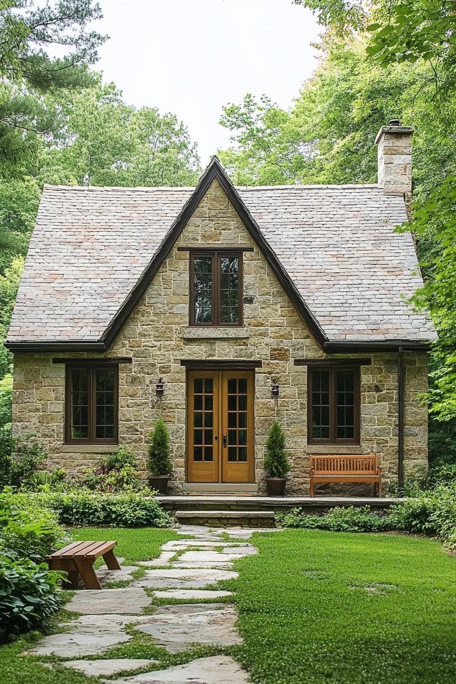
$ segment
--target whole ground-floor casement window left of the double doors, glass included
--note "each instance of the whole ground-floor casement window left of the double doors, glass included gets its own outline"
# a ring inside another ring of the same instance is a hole
[[[67,365],[65,441],[115,444],[118,440],[118,366]]]

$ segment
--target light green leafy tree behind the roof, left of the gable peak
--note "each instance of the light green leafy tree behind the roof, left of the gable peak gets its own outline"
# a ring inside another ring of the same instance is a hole
[[[62,127],[40,155],[40,179],[64,185],[191,185],[196,146],[183,123],[155,107],[126,105],[100,75],[92,88],[61,91]]]

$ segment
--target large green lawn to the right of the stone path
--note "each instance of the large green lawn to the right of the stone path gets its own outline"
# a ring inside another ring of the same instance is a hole
[[[237,657],[257,684],[453,684],[456,558],[396,535],[256,534],[236,564]],[[220,586],[220,585],[219,585]]]

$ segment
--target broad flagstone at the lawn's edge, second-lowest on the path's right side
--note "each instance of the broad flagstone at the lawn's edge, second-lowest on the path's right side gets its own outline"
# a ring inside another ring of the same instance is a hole
[[[235,646],[242,639],[234,630],[237,612],[225,603],[162,606],[150,622],[137,629],[150,634],[157,646],[179,653],[191,646]]]

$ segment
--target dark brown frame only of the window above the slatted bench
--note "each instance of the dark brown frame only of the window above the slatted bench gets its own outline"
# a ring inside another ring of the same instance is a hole
[[[330,436],[329,438],[312,437],[312,376],[314,371],[330,373]],[[337,437],[337,393],[335,378],[338,371],[353,371],[353,438]],[[358,364],[344,365],[312,365],[307,369],[307,443],[314,445],[360,445],[361,443],[361,369]]]

